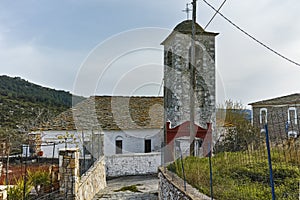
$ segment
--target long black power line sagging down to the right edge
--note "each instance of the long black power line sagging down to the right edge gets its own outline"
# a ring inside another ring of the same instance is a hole
[[[244,31],[242,28],[240,28],[238,25],[236,25],[234,22],[232,22],[230,19],[228,19],[227,17],[225,17],[221,12],[219,12],[219,10],[217,10],[216,8],[214,8],[211,4],[209,4],[206,0],[203,0],[204,3],[206,3],[206,5],[208,5],[210,8],[212,8],[214,11],[216,11],[216,13],[218,13],[221,17],[223,17],[227,22],[229,22],[231,25],[233,25],[235,28],[237,28],[239,31],[241,31],[242,33],[244,33],[245,35],[247,35],[248,37],[250,37],[252,40],[254,40],[255,42],[257,42],[258,44],[262,45],[263,47],[265,47],[266,49],[268,49],[269,51],[273,52],[274,54],[276,54],[277,56],[285,59],[286,61],[297,65],[300,67],[300,64],[296,61],[293,61],[292,59],[284,56],[283,54],[279,53],[278,51],[272,49],[271,47],[267,46],[266,44],[264,44],[263,42],[259,41],[258,39],[256,39],[254,36],[250,35],[249,33],[247,33],[246,31]]]

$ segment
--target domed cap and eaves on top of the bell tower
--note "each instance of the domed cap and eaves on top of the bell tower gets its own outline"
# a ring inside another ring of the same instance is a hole
[[[182,21],[174,28],[173,32],[161,44],[164,45],[167,40],[169,40],[174,34],[177,33],[192,35],[192,24],[193,24],[192,20]],[[195,27],[196,27],[196,35],[216,36],[219,34],[219,33],[205,31],[198,23],[195,24]]]

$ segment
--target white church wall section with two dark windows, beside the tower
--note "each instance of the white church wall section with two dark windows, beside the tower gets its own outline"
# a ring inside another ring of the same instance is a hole
[[[160,151],[162,129],[105,131],[104,155],[116,154],[116,139],[122,138],[123,154],[144,153],[145,139],[151,139],[151,151]]]

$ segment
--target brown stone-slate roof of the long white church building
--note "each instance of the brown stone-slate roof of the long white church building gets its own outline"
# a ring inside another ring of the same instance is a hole
[[[93,96],[61,113],[41,129],[160,129],[163,115],[163,97]]]

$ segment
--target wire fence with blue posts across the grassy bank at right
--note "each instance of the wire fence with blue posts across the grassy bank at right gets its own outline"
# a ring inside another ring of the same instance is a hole
[[[294,107],[268,108],[253,125],[217,129],[213,154],[179,158],[168,169],[212,199],[299,199],[298,116]]]

